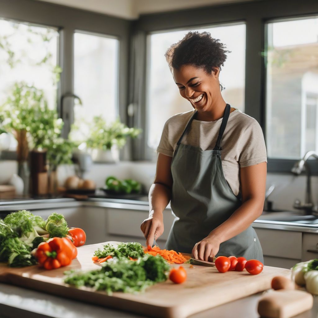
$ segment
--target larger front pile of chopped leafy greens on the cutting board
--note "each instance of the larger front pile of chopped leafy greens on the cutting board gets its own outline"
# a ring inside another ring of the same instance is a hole
[[[66,272],[65,283],[112,292],[136,293],[156,282],[167,280],[169,265],[160,256],[147,254],[136,261],[119,257],[103,263],[102,268],[83,272]],[[149,269],[151,269],[149,271]]]

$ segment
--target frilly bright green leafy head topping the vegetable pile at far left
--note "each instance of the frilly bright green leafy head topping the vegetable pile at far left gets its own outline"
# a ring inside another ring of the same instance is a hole
[[[17,232],[17,236],[29,236],[33,232],[34,226],[43,227],[44,219],[40,216],[33,215],[30,211],[20,210],[7,215],[3,222],[9,225],[13,231]]]

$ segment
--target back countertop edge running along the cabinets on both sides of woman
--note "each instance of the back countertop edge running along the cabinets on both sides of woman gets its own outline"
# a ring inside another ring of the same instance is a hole
[[[45,199],[25,199],[14,201],[0,202],[0,215],[10,211],[17,211],[21,209],[26,210],[40,210],[40,209],[58,209],[67,207],[92,206],[125,210],[138,210],[149,212],[149,202],[142,197],[141,200],[127,200],[127,199],[111,199],[111,198],[89,198],[88,200],[78,201],[73,198],[45,198]],[[170,204],[166,208],[171,210]],[[265,212],[263,215],[267,215]],[[262,215],[262,216],[263,216]],[[294,232],[310,232],[318,233],[318,224],[316,225],[295,225],[291,222],[278,222],[271,220],[257,219],[252,224],[256,228],[276,229]]]

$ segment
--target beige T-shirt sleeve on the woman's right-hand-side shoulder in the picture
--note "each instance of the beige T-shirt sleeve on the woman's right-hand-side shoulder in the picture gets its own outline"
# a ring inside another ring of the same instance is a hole
[[[239,164],[241,168],[267,162],[266,145],[262,128],[253,119],[240,137]]]

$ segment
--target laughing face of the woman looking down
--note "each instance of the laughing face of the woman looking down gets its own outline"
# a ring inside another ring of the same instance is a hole
[[[202,112],[211,110],[214,96],[220,93],[218,69],[207,74],[203,68],[183,65],[179,70],[173,69],[172,75],[180,95],[189,100],[193,108]]]

